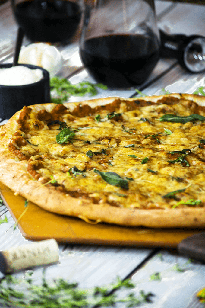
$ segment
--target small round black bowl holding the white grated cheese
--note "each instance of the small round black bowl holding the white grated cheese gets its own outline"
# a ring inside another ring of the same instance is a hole
[[[37,82],[21,86],[0,85],[0,118],[9,119],[24,106],[50,103],[49,72],[31,64],[19,64],[30,69],[39,68],[43,71],[43,78]],[[0,68],[12,67],[12,64],[0,64]]]

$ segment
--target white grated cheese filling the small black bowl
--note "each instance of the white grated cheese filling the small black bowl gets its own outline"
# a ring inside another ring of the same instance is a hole
[[[37,82],[42,78],[43,71],[39,68],[32,70],[18,65],[0,69],[0,85],[4,86],[21,86]]]

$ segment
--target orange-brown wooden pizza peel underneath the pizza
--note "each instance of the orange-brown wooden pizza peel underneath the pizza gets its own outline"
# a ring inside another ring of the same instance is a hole
[[[2,183],[0,192],[4,204],[14,221],[17,221],[25,210],[25,198],[15,196]],[[177,245],[187,237],[205,231],[205,229],[124,227],[106,223],[93,225],[75,217],[50,213],[30,201],[26,213],[18,221],[18,227],[22,235],[31,241],[55,238],[60,243],[170,248],[177,248]],[[199,243],[200,241],[201,239]],[[189,246],[183,242],[183,246],[181,244],[178,246],[180,253],[188,253],[186,245]]]

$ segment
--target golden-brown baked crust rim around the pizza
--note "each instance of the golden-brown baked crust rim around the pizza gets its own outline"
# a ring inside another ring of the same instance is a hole
[[[205,98],[191,94],[171,94],[160,96],[147,96],[143,100],[158,102],[164,97],[177,97],[193,100],[195,103],[205,106]],[[82,105],[91,107],[111,103],[118,97],[92,99],[80,102]],[[140,99],[140,98],[137,98]],[[126,99],[126,100],[136,100]],[[65,107],[73,108],[77,103],[66,103]],[[45,109],[51,111],[56,104],[38,104],[29,106],[35,111]],[[21,160],[8,150],[9,138],[18,128],[17,119],[21,111],[18,111],[1,130],[0,140],[0,180],[15,194],[20,194],[34,202],[41,208],[61,214],[79,217],[85,221],[106,222],[124,226],[146,226],[152,228],[172,227],[205,227],[205,207],[186,207],[175,209],[136,209],[120,208],[108,203],[94,204],[86,199],[71,197],[69,194],[59,192],[51,184],[42,186],[41,182],[33,180],[26,171],[27,161]]]

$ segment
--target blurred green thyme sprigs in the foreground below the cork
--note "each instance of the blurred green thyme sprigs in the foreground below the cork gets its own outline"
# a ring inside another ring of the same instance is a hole
[[[127,294],[124,298],[113,294],[115,290],[134,288],[135,284],[130,279],[121,280],[108,286],[81,289],[77,283],[68,282],[62,278],[49,282],[45,279],[43,271],[42,282],[34,284],[31,277],[14,278],[5,276],[0,282],[0,304],[22,308],[77,308],[77,307],[108,307],[115,306],[117,302],[124,302],[127,307],[136,307],[143,302],[151,302],[154,296],[151,292],[140,290],[136,296]]]

